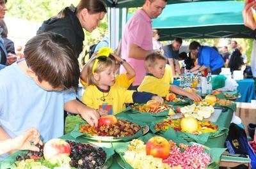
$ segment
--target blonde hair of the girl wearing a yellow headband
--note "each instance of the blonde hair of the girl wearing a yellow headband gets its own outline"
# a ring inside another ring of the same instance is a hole
[[[104,70],[106,70],[106,68],[108,68],[109,66],[115,66],[115,61],[113,61],[113,59],[110,59],[109,57],[105,57],[106,60],[101,60],[99,59],[97,66],[94,70],[94,73],[100,73]],[[96,61],[97,57],[93,57],[92,59],[90,59],[90,61],[86,64],[87,66],[87,84],[88,85],[97,85],[97,81],[95,80],[95,78],[93,77],[93,65],[94,62]]]

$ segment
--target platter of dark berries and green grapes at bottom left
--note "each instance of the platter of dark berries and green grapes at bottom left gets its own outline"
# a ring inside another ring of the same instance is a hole
[[[54,139],[61,140],[59,138]],[[53,142],[54,139],[50,140],[50,142]],[[53,156],[51,159],[47,159],[45,156],[45,154],[50,153],[45,150],[45,146],[48,146],[47,148],[50,147],[49,143],[47,143],[45,143],[44,146],[38,145],[40,152],[28,151],[15,154],[15,156],[13,156],[15,161],[13,161],[11,168],[56,168],[57,166],[60,166],[60,168],[92,168],[95,166],[107,169],[113,162],[113,153],[108,149],[92,143],[81,143],[70,140],[66,140],[65,142],[70,145],[70,155],[58,157],[60,159],[53,162],[51,160],[54,159]],[[58,141],[58,143],[60,143],[60,141]],[[84,161],[79,160],[82,158],[82,154]]]

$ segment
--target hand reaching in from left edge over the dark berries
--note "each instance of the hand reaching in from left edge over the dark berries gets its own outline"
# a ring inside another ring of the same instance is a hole
[[[42,145],[42,141],[40,140],[40,133],[35,128],[28,129],[21,135],[13,138],[13,145],[16,147],[16,149],[39,151],[39,148],[35,145],[31,145],[31,142],[33,142],[35,145],[37,143]]]

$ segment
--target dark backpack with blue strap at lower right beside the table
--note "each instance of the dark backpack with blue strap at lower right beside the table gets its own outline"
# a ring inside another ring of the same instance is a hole
[[[256,168],[256,156],[243,128],[231,123],[225,145],[230,153],[250,156],[252,168]]]

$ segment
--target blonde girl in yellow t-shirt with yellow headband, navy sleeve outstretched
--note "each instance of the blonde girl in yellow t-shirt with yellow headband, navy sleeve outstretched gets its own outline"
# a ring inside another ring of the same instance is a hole
[[[98,54],[88,62],[86,69],[88,87],[82,96],[84,104],[106,110],[108,114],[118,114],[125,110],[125,103],[146,103],[150,99],[163,103],[163,98],[150,92],[129,91],[120,85],[114,85],[115,61],[108,56],[109,52],[104,55]]]

